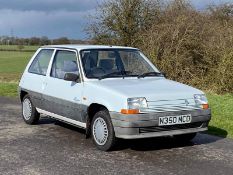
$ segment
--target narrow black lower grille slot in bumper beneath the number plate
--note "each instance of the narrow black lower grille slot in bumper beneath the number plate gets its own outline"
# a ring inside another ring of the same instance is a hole
[[[161,132],[161,131],[171,131],[171,130],[181,130],[181,129],[189,129],[189,128],[201,128],[201,127],[206,127],[206,123],[196,122],[196,123],[170,125],[170,126],[143,127],[143,128],[139,128],[139,132],[140,133]]]

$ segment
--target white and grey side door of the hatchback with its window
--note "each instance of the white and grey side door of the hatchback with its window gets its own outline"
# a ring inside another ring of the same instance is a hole
[[[56,50],[43,92],[44,109],[52,117],[85,127],[86,107],[82,105],[83,84],[64,80],[66,73],[79,75],[77,53]]]

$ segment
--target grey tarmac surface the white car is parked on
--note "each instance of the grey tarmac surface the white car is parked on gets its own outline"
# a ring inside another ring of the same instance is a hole
[[[233,140],[198,134],[190,143],[121,140],[101,152],[84,132],[49,118],[26,125],[16,99],[0,97],[0,174],[233,174]]]

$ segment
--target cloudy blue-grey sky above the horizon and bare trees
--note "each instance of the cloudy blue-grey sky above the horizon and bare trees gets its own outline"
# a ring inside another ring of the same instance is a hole
[[[0,36],[85,39],[88,14],[102,0],[0,0]],[[233,0],[191,0],[198,9]]]

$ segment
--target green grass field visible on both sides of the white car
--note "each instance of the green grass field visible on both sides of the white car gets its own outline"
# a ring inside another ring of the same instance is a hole
[[[32,55],[33,52],[0,51],[0,96],[17,96],[20,75]],[[208,93],[208,99],[213,115],[208,132],[233,138],[233,94]]]

